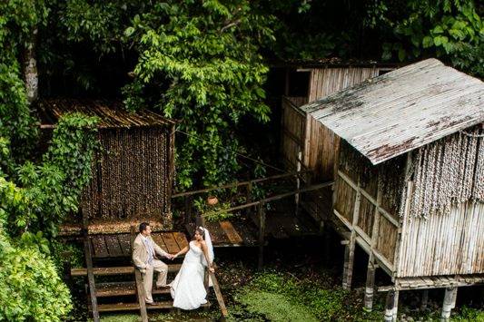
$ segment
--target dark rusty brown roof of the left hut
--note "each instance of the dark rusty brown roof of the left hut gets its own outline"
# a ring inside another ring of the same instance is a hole
[[[122,102],[56,99],[43,100],[39,107],[49,122],[56,122],[67,112],[82,112],[100,119],[99,128],[130,128],[135,126],[157,126],[173,124],[173,120],[148,110],[127,112]]]

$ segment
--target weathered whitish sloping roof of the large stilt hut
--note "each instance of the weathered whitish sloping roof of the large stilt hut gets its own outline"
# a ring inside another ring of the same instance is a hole
[[[484,83],[428,59],[301,110],[378,164],[484,122]]]

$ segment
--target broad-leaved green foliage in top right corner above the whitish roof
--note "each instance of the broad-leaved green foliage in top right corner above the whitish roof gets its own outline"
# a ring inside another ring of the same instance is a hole
[[[452,63],[470,72],[482,74],[474,64],[482,65],[484,24],[473,0],[410,1],[409,14],[394,25],[400,42],[384,44],[383,58],[397,54],[400,61],[424,54],[449,57]],[[479,48],[479,49],[478,49]]]

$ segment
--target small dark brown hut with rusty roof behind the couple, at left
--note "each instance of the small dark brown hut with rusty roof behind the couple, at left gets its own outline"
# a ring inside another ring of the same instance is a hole
[[[128,232],[139,220],[155,230],[171,229],[175,122],[150,112],[126,112],[120,102],[50,100],[39,103],[52,127],[67,112],[97,116],[102,148],[80,210],[89,233]],[[69,219],[64,233],[76,233],[81,218]]]

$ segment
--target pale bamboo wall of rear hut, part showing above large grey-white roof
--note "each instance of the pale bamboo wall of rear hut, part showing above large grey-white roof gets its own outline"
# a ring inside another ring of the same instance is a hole
[[[376,67],[323,68],[311,71],[309,102],[378,76]]]

